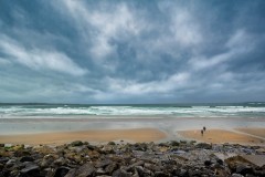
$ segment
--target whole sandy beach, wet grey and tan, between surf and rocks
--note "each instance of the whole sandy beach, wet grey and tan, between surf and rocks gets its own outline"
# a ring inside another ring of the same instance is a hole
[[[203,126],[206,131],[200,133]],[[0,121],[0,143],[60,145],[73,140],[108,142],[198,140],[264,145],[262,118],[219,117],[24,117]]]

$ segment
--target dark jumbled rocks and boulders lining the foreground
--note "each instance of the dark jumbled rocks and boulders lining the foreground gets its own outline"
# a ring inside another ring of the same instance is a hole
[[[195,142],[0,144],[0,177],[265,176],[265,148]]]

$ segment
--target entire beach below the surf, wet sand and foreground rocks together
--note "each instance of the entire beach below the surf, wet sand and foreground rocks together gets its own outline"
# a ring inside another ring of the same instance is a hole
[[[0,176],[264,176],[264,127],[250,117],[1,118]]]

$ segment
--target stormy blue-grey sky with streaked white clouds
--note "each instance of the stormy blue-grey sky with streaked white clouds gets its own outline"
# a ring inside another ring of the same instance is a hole
[[[0,103],[265,101],[264,0],[1,0]]]

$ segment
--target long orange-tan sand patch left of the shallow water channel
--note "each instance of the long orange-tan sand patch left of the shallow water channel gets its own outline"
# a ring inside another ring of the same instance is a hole
[[[89,143],[107,143],[110,140],[126,142],[156,142],[167,137],[167,134],[156,128],[134,129],[95,129],[78,132],[57,132],[41,134],[0,135],[0,143],[4,144],[49,144],[60,145],[74,140],[87,140]]]

